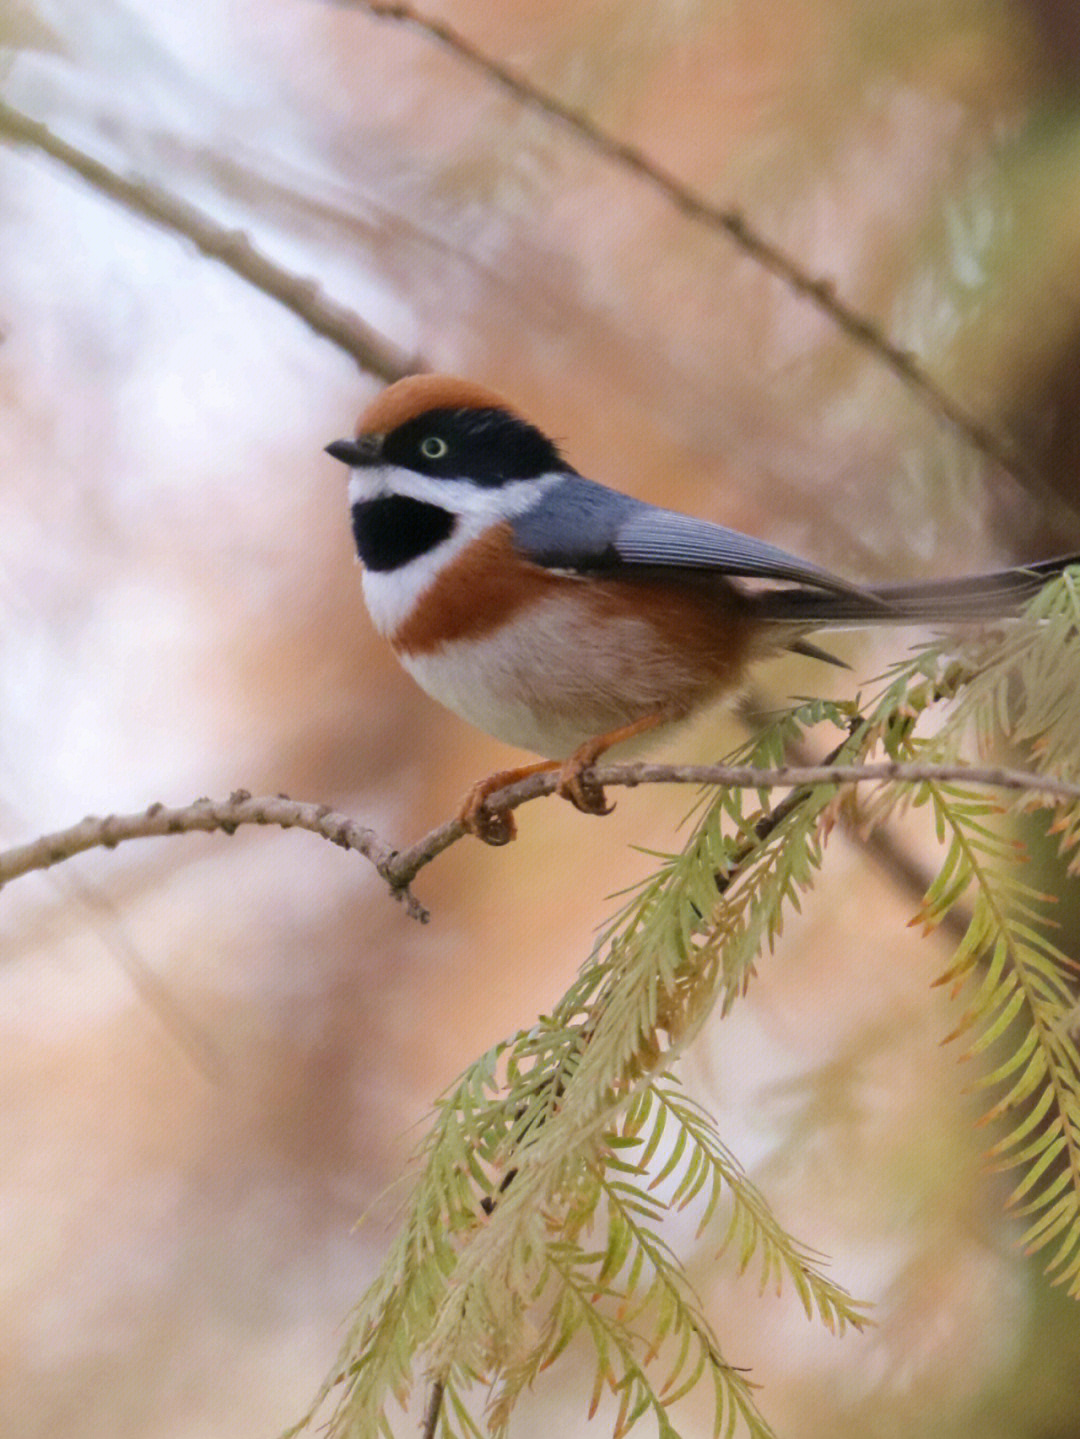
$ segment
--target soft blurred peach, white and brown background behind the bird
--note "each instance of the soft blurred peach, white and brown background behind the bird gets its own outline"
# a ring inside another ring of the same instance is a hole
[[[1076,498],[1071,0],[426,13],[736,206]],[[9,106],[243,232],[388,345],[512,396],[584,473],[856,578],[1077,545],[726,237],[413,29],[332,0],[7,0],[0,55]],[[0,338],[4,845],[237,786],[404,843],[515,761],[368,625],[322,446],[380,381],[10,127]],[[853,675],[772,665],[761,695],[851,694],[910,639],[846,640]],[[712,715],[674,753],[743,734]],[[301,833],[128,845],[7,889],[0,1432],[263,1439],[296,1419],[431,1101],[551,1007],[647,872],[634,846],[677,845],[687,806],[637,790],[603,823],[529,806],[515,846],[424,871],[427,927]],[[897,836],[928,865],[922,842]],[[946,951],[905,927],[915,908],[837,836],[686,1065],[877,1327],[836,1341],[715,1245],[673,1242],[782,1435],[1074,1435],[1080,1309],[1002,1219],[941,1046]],[[587,1379],[565,1356],[518,1432],[585,1433]]]

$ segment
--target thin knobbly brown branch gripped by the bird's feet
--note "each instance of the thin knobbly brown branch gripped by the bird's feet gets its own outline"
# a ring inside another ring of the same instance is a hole
[[[788,764],[775,770],[732,764],[607,764],[595,770],[595,781],[604,786],[639,784],[719,784],[729,789],[772,790],[814,784],[923,784],[962,783],[988,789],[1027,793],[1041,800],[1080,800],[1080,784],[1035,774],[974,764]],[[532,774],[526,780],[499,790],[489,799],[495,810],[513,810],[529,800],[551,794],[558,776]],[[305,829],[342,849],[362,855],[390,885],[416,920],[427,920],[427,909],[413,895],[413,879],[456,845],[466,833],[459,819],[439,825],[408,849],[394,849],[372,829],[358,825],[348,814],[328,804],[305,804],[285,796],[253,797],[247,790],[236,790],[227,800],[200,799],[194,804],[168,809],[151,804],[135,814],[89,816],[69,829],[42,835],[27,845],[0,852],[0,886],[36,869],[49,869],[88,849],[115,849],[128,839],[148,839],[164,835],[210,833],[232,835],[242,825],[273,825],[280,829]]]

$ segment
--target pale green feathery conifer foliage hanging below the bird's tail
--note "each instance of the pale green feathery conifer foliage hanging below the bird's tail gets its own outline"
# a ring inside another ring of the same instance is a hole
[[[775,766],[824,730],[838,737],[838,764],[955,764],[1005,743],[1025,767],[1080,780],[1079,584],[1066,574],[1020,622],[959,652],[923,646],[866,701],[775,717],[736,758]],[[771,1433],[664,1238],[666,1217],[690,1210],[700,1230],[723,1213],[726,1259],[762,1288],[791,1286],[836,1334],[867,1311],[779,1225],[685,1092],[677,1059],[745,994],[838,819],[870,826],[906,804],[929,807],[941,842],[916,918],[929,931],[958,907],[969,912],[938,981],[958,1006],[951,1038],[987,1095],[989,1154],[1015,1171],[1022,1243],[1080,1297],[1076,963],[1051,940],[1053,899],[1027,876],[1010,825],[1010,807],[1040,816],[1076,869],[1080,802],[1007,803],[936,780],[861,794],[817,784],[781,803],[719,790],[699,802],[685,848],[626,898],[555,1010],[439,1102],[397,1239],[298,1429],[332,1396],[335,1439],[390,1436],[394,1406],[427,1384],[436,1432],[502,1435],[522,1393],[584,1340],[594,1377],[582,1412],[610,1392],[615,1439],[643,1419],[676,1436],[677,1402],[697,1386],[715,1433]]]

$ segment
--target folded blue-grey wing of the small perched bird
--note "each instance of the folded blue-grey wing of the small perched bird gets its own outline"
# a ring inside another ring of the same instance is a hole
[[[578,475],[568,475],[513,521],[521,550],[545,568],[588,574],[713,571],[787,580],[815,590],[861,594],[828,570],[754,535],[647,505]]]

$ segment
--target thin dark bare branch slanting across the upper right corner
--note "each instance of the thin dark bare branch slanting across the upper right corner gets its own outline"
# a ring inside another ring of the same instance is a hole
[[[823,315],[827,315],[848,340],[892,370],[923,404],[962,435],[975,450],[998,465],[1018,485],[1037,495],[1051,515],[1066,522],[1067,528],[1076,527],[1076,507],[1070,505],[1028,463],[1012,439],[999,435],[992,426],[966,410],[922,368],[919,358],[910,350],[897,345],[882,325],[841,299],[837,295],[834,281],[805,271],[798,260],[761,235],[741,210],[708,200],[670,170],[650,160],[637,145],[631,145],[604,130],[584,109],[568,105],[541,89],[521,71],[486,55],[446,22],[421,14],[411,4],[397,3],[397,0],[334,0],[334,3],[362,10],[375,20],[393,20],[420,30],[450,50],[459,60],[479,71],[508,95],[512,95],[521,105],[567,125],[590,150],[644,180],[690,220],[725,233],[745,255],[782,281],[792,294],[810,301]]]

